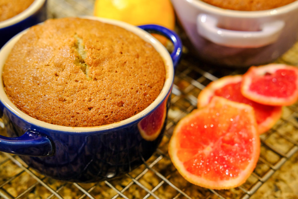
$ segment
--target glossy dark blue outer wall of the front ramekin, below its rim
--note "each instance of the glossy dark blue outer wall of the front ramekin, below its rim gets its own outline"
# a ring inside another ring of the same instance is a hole
[[[174,41],[180,41],[179,37]],[[182,45],[175,42],[174,45],[180,49],[172,53],[173,62],[177,63]],[[173,86],[173,79],[171,81]],[[155,111],[160,112],[158,107],[163,103],[169,109],[172,86],[164,99],[141,118],[111,129],[88,132],[67,132],[32,124],[10,111],[0,101],[7,133],[17,137],[1,136],[0,150],[20,155],[30,167],[58,180],[95,182],[123,175],[148,160],[160,144],[167,116],[161,123],[160,134],[152,141],[142,137],[138,123]],[[30,139],[34,136],[34,139]],[[11,143],[15,140],[20,143]],[[48,156],[37,157],[44,155]]]

